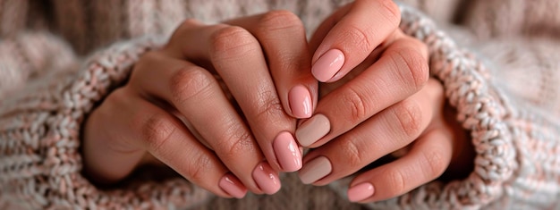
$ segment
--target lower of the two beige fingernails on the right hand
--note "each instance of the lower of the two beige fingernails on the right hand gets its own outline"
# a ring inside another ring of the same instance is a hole
[[[319,156],[303,165],[298,176],[300,176],[301,182],[310,184],[327,176],[332,170],[333,167],[327,157]]]

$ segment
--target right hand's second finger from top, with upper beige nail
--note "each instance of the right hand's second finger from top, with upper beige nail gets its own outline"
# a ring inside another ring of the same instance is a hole
[[[428,80],[426,46],[401,38],[376,63],[323,97],[316,114],[295,132],[303,147],[319,147],[390,105],[412,96]]]

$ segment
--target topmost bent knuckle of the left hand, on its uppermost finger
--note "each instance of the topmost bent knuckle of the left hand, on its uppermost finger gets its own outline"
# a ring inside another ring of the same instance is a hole
[[[257,29],[261,32],[277,32],[280,29],[296,29],[303,32],[303,23],[300,18],[289,11],[276,10],[265,13],[259,20]]]

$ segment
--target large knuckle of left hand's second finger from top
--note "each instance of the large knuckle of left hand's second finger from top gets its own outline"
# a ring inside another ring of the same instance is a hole
[[[259,42],[249,31],[237,26],[217,29],[210,36],[210,56],[214,59],[239,59],[254,50],[260,50]]]

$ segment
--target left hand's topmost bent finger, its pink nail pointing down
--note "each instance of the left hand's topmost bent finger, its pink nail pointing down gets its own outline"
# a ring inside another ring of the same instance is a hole
[[[286,113],[309,118],[317,105],[318,83],[310,71],[310,52],[300,18],[288,11],[272,11],[227,23],[247,29],[259,40]]]

